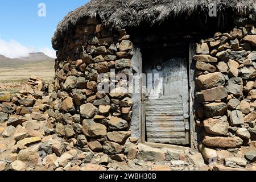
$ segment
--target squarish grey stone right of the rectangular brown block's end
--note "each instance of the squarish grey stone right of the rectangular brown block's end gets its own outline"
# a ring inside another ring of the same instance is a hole
[[[230,78],[227,87],[228,93],[240,97],[243,95],[243,80],[242,78]]]

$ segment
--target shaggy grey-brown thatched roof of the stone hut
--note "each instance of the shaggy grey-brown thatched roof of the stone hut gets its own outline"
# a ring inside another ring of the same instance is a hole
[[[208,12],[212,3],[217,5],[218,13],[232,9],[236,15],[255,18],[256,0],[92,0],[61,20],[52,38],[52,45],[55,49],[60,48],[65,33],[85,16],[99,15],[102,22],[110,27],[138,27],[144,22],[161,23],[170,16]]]

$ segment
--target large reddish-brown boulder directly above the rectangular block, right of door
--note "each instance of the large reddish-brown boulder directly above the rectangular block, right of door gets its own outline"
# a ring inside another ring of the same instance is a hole
[[[225,78],[220,72],[208,73],[207,75],[200,75],[196,80],[200,89],[210,89],[216,86],[225,84]]]

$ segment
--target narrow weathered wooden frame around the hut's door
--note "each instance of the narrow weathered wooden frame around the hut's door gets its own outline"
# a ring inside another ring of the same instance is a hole
[[[193,56],[195,55],[195,48],[196,44],[195,42],[190,42],[188,46],[188,82],[189,82],[189,148],[196,148],[196,142],[195,142],[195,111],[194,111],[194,101],[195,101],[195,63],[193,61]],[[142,59],[141,59],[142,60]],[[142,62],[141,61],[141,68],[142,68]],[[140,71],[143,73],[142,69]],[[139,80],[140,84],[140,97],[141,97],[141,102],[140,102],[140,127],[141,127],[141,143],[149,144],[150,146],[159,146],[159,147],[164,147],[164,146],[174,146],[174,147],[183,147],[179,146],[176,144],[162,144],[162,143],[148,143],[146,142],[146,109],[145,109],[145,101],[146,98],[144,94],[142,93],[142,77]]]

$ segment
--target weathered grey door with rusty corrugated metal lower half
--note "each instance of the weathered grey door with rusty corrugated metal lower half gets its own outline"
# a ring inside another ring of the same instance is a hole
[[[189,144],[187,62],[183,57],[154,55],[154,59],[150,66],[144,65],[146,73],[159,73],[158,79],[149,79],[147,85],[147,142]]]

